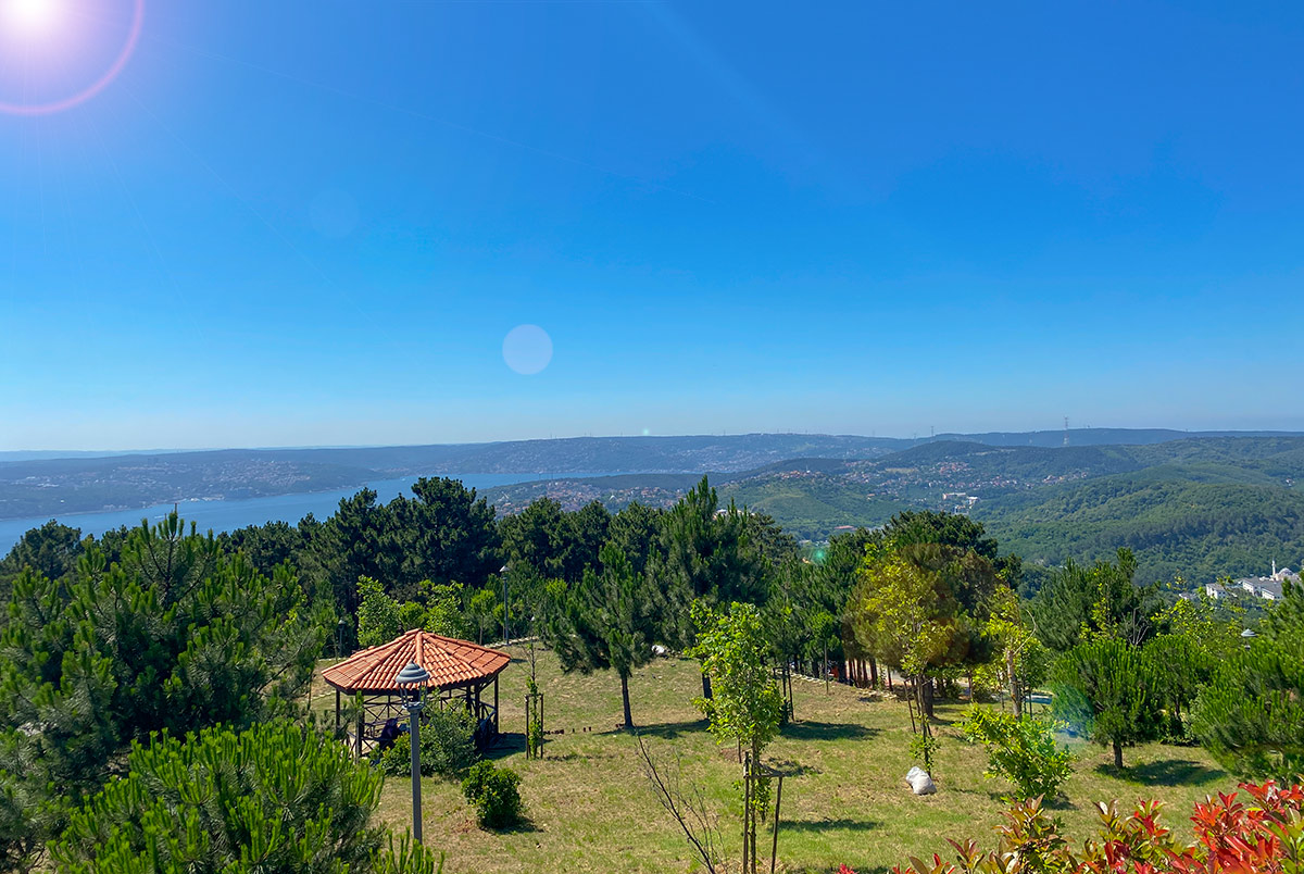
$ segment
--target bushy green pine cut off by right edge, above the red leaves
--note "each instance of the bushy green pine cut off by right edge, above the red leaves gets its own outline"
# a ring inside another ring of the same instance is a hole
[[[1253,777],[1304,774],[1304,592],[1284,588],[1260,635],[1219,664],[1193,708],[1200,742]]]

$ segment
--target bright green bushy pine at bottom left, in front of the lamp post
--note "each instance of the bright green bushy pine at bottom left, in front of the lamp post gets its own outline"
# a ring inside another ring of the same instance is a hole
[[[232,874],[396,870],[372,823],[381,776],[329,737],[288,723],[136,744],[128,774],[76,811],[51,845],[60,871]],[[434,870],[406,848],[409,867]],[[417,865],[411,865],[411,862]],[[407,870],[407,869],[404,869]]]

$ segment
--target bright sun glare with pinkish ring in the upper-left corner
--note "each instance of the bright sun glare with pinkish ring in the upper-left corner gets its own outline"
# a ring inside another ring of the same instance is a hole
[[[116,4],[99,5],[117,5],[130,9],[130,20],[124,22],[125,37],[117,38],[121,39],[121,46],[112,55],[108,67],[103,68],[103,72],[94,70],[95,77],[90,85],[74,90],[67,97],[33,102],[7,100],[0,97],[0,112],[9,115],[63,112],[85,103],[117,78],[117,74],[132,59],[136,44],[141,39],[141,29],[145,23],[145,0],[121,0]],[[106,35],[103,21],[103,17],[89,16],[85,10],[74,8],[70,0],[0,0],[0,43],[4,43],[4,50],[9,52],[21,50],[29,60],[39,56],[46,68],[57,69],[64,65],[67,69],[63,70],[63,76],[69,80],[80,78],[77,63],[81,60],[82,52],[69,50],[67,44],[69,40],[65,37],[70,34],[86,35],[93,43],[98,42],[104,50],[104,56],[108,57],[112,44],[106,46],[104,43],[113,37]],[[110,26],[108,33],[115,30],[121,34],[124,29]]]

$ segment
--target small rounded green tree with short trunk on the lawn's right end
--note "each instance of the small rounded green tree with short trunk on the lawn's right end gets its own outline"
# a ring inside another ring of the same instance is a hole
[[[1112,746],[1118,768],[1124,746],[1163,733],[1163,699],[1150,660],[1124,640],[1080,643],[1056,663],[1052,682],[1055,716],[1101,746]]]

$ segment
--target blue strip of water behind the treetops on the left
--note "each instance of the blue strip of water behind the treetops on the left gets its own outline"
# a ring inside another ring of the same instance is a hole
[[[511,485],[512,483],[535,483],[539,480],[556,480],[561,477],[576,476],[610,476],[609,474],[450,474],[451,479],[462,480],[467,488],[486,489],[494,485]],[[382,504],[394,500],[399,493],[409,493],[416,476],[404,476],[396,480],[376,480],[366,487],[374,489],[377,500]],[[330,492],[309,492],[300,494],[276,494],[263,498],[245,498],[240,501],[183,501],[177,505],[181,518],[186,522],[194,520],[200,531],[214,532],[235,531],[250,524],[263,524],[266,522],[288,522],[296,524],[305,515],[312,513],[318,519],[326,519],[339,509],[342,498],[357,494],[361,485],[347,489],[334,489]],[[81,528],[82,536],[99,536],[106,531],[138,526],[141,519],[150,523],[158,522],[172,511],[171,504],[158,504],[136,510],[112,510],[108,513],[70,513],[55,517],[63,524]],[[39,528],[50,522],[51,517],[35,517],[31,519],[0,519],[0,556],[8,553],[13,544],[31,528]]]

